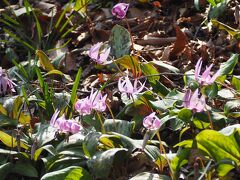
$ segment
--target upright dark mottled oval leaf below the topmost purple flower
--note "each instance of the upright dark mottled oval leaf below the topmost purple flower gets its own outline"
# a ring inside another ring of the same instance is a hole
[[[111,55],[114,58],[129,55],[131,48],[131,35],[128,30],[122,26],[115,25],[111,31],[109,45],[111,46]]]

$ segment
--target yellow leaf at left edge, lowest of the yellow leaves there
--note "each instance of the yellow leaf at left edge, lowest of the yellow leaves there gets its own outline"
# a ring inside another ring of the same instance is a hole
[[[17,146],[17,140],[16,138],[8,135],[7,133],[0,131],[0,141],[3,142],[3,144],[5,144],[7,147],[16,147]],[[24,149],[28,149],[28,146],[23,143],[22,141],[20,141],[20,147],[24,148]]]

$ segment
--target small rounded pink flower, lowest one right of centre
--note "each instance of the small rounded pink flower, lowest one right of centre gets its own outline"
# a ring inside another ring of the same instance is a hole
[[[155,114],[156,113],[153,112],[143,119],[143,126],[148,130],[156,130],[160,128],[161,121]]]

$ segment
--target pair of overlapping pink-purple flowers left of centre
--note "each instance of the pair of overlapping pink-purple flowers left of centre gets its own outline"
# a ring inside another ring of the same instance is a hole
[[[90,96],[79,99],[75,104],[75,109],[80,115],[91,114],[92,110],[103,112],[106,110],[106,95],[102,95],[100,91],[91,91]]]

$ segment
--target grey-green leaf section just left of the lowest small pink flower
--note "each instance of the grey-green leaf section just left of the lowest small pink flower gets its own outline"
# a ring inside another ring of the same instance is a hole
[[[104,128],[106,132],[114,131],[126,136],[131,136],[133,123],[120,119],[106,119],[104,121]]]

